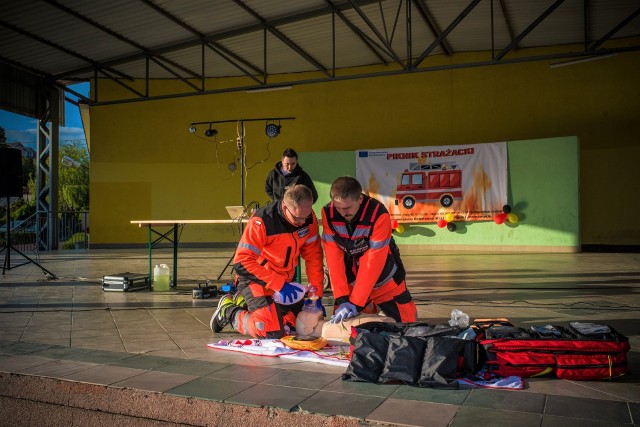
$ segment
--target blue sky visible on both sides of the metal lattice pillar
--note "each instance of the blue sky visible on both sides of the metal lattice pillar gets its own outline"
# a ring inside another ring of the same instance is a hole
[[[78,93],[89,96],[89,83],[78,83],[69,87]],[[71,93],[67,93],[67,98],[77,99]],[[66,126],[60,128],[60,143],[63,144],[69,140],[84,141],[80,110],[70,102],[65,102],[64,104]],[[27,147],[36,149],[36,119],[0,109],[0,126],[5,130],[7,142],[22,142]]]

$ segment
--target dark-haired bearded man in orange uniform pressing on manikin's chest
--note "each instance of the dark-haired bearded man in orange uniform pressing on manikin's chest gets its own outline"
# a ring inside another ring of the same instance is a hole
[[[357,316],[371,302],[396,322],[415,322],[387,209],[351,177],[336,179],[330,196],[322,208],[322,243],[335,298],[331,322]]]

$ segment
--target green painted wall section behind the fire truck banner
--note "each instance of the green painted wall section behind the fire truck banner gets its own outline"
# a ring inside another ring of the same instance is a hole
[[[394,233],[403,245],[442,248],[500,250],[517,249],[575,251],[580,246],[579,144],[576,137],[547,138],[507,143],[509,203],[519,217],[516,224],[493,221],[458,222],[450,232],[436,224],[403,224]],[[355,152],[305,153],[301,164],[318,183],[320,197],[315,206],[329,202],[331,182],[341,175],[355,176]],[[331,164],[331,168],[317,165]],[[532,168],[532,165],[535,167]]]

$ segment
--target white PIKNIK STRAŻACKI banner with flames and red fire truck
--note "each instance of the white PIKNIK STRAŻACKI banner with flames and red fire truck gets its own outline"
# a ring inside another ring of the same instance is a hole
[[[507,204],[507,144],[359,150],[356,178],[398,222],[492,220]]]

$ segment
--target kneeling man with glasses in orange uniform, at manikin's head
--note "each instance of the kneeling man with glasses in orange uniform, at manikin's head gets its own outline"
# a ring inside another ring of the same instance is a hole
[[[211,330],[220,332],[231,323],[254,338],[282,338],[285,322],[295,325],[307,291],[291,282],[298,256],[305,260],[309,285],[315,285],[316,295],[322,297],[323,255],[312,204],[311,190],[298,184],[249,219],[233,264],[238,293],[220,299]],[[318,307],[323,308],[320,301]]]

